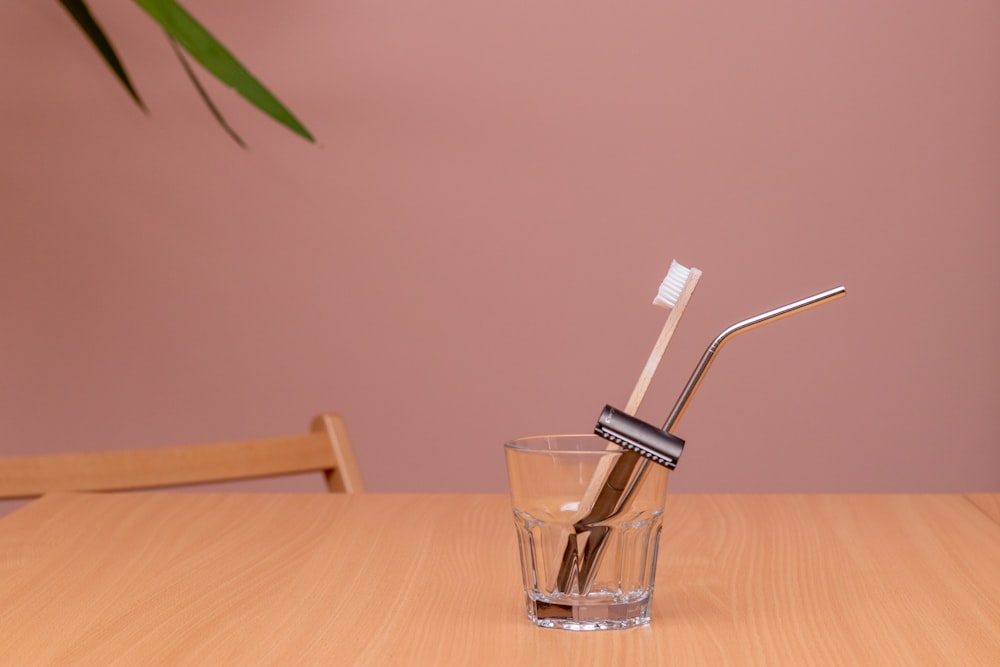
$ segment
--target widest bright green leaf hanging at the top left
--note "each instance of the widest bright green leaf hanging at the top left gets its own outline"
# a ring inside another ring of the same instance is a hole
[[[167,34],[223,83],[299,136],[313,136],[236,58],[174,0],[135,0]]]

